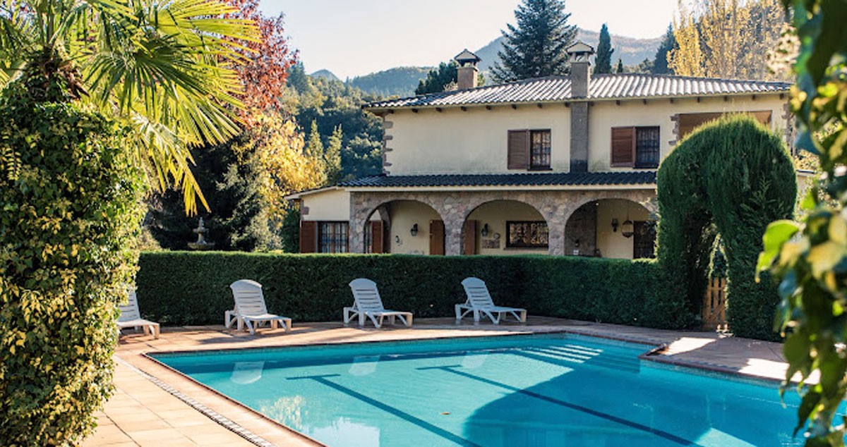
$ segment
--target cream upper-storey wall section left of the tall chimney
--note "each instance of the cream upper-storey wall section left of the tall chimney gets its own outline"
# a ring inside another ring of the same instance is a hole
[[[507,132],[520,129],[551,130],[551,168],[570,167],[570,109],[562,104],[397,110],[385,116],[392,123],[385,135],[386,167],[391,175],[492,174],[526,172],[507,169]]]

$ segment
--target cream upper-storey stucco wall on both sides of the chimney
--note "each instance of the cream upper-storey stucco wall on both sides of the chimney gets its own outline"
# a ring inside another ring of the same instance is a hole
[[[596,101],[589,109],[589,169],[628,170],[610,168],[612,127],[660,127],[662,157],[672,148],[675,123],[671,117],[677,113],[728,113],[771,111],[772,130],[782,132],[785,127],[783,105],[785,99],[778,94],[728,97],[650,99],[622,101]],[[507,131],[519,129],[551,130],[551,168],[567,172],[570,168],[571,108],[563,103],[499,105],[487,110],[484,107],[444,108],[437,112],[421,108],[418,113],[398,109],[385,115],[390,136],[385,152],[391,163],[386,170],[392,175],[411,174],[492,174],[526,172],[525,169],[507,168]]]

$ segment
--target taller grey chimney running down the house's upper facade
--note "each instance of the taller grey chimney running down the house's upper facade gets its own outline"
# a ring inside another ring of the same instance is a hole
[[[567,47],[571,62],[571,171],[588,171],[588,99],[591,83],[591,55],[594,48],[578,41]],[[583,101],[579,101],[583,99]]]

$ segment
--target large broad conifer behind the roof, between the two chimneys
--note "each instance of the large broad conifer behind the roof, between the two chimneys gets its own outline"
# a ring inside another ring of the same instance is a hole
[[[577,35],[567,25],[564,0],[523,0],[515,10],[518,25],[502,31],[506,41],[491,69],[497,82],[567,74],[567,47]]]

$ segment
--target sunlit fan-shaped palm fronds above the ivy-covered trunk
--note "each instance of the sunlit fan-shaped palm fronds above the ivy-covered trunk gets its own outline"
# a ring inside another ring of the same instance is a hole
[[[238,132],[235,65],[259,32],[217,0],[3,0],[0,88],[25,71],[67,80],[65,100],[90,102],[134,130],[147,183],[173,181],[187,212],[208,207],[191,146]],[[54,98],[55,99],[55,98]]]

